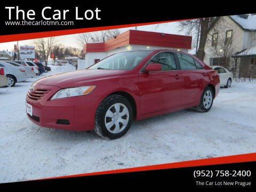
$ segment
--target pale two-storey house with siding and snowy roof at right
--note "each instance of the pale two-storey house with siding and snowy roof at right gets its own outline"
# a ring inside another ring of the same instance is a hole
[[[220,17],[207,36],[204,62],[235,77],[256,77],[256,14]]]

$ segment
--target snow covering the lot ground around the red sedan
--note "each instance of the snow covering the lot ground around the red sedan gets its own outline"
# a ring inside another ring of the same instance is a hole
[[[53,75],[73,70],[51,66]],[[255,152],[256,82],[221,89],[208,113],[193,109],[135,122],[124,137],[39,127],[29,121],[30,78],[0,88],[0,182],[123,169]]]

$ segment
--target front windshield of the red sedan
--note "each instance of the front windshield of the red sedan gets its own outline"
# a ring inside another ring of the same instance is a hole
[[[89,69],[114,69],[131,70],[136,67],[152,51],[131,51],[116,53],[110,57],[99,61]]]

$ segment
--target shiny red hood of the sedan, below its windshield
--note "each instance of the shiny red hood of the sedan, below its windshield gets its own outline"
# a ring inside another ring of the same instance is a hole
[[[84,69],[52,75],[39,79],[41,85],[58,86],[60,88],[82,86],[86,82],[115,77],[123,74],[122,70]]]

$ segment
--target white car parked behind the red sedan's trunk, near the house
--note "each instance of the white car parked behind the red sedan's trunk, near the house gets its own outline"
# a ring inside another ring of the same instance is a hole
[[[221,66],[212,66],[212,69],[217,71],[218,75],[220,76],[220,86],[224,86],[226,88],[231,87],[233,73]]]

